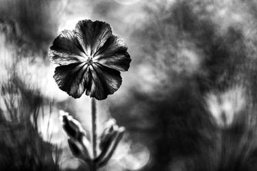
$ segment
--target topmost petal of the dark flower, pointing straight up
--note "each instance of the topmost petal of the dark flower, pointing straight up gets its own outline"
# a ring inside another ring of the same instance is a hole
[[[112,35],[112,29],[108,23],[90,20],[79,21],[75,32],[88,56],[94,55]]]

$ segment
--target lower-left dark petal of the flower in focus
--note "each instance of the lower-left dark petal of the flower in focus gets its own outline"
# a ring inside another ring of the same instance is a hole
[[[69,64],[67,66],[58,66],[53,78],[56,80],[59,88],[73,98],[79,98],[85,91],[87,64]]]

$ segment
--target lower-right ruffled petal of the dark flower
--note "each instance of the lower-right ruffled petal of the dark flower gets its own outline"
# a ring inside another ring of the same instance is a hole
[[[121,86],[121,73],[118,70],[99,64],[93,64],[89,68],[92,82],[86,89],[86,95],[103,100],[107,98],[108,94],[113,94]]]

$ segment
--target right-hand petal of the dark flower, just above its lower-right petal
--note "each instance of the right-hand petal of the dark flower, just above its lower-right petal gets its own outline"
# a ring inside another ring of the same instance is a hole
[[[119,71],[130,68],[131,59],[127,53],[127,46],[117,36],[110,36],[95,55],[95,61],[103,66]]]

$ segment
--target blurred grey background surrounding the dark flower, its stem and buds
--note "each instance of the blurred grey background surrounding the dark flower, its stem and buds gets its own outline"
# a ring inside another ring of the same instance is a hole
[[[86,170],[59,111],[90,131],[90,98],[53,80],[48,51],[79,20],[106,21],[132,63],[97,102],[126,134],[101,170],[257,170],[257,1],[0,0],[0,170]]]

